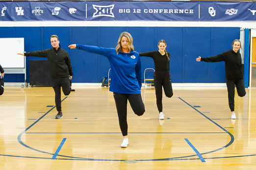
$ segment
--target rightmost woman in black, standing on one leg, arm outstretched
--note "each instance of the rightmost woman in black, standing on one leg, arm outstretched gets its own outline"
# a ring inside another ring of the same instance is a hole
[[[197,62],[225,62],[225,71],[227,79],[229,106],[231,110],[231,119],[236,119],[234,112],[234,94],[235,86],[238,96],[245,96],[245,86],[244,86],[244,76],[242,71],[242,58],[241,54],[238,52],[241,42],[239,40],[234,40],[232,43],[233,49],[225,51],[222,54],[218,54],[212,57],[205,57],[196,59]]]

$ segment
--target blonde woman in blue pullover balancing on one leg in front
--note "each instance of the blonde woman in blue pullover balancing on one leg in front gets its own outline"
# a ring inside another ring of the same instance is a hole
[[[70,48],[81,49],[107,57],[111,67],[111,85],[114,94],[119,125],[124,137],[122,148],[128,147],[127,101],[134,113],[143,115],[145,106],[141,98],[141,62],[140,56],[133,51],[133,39],[128,32],[119,36],[116,48],[103,48],[83,44],[71,44]]]

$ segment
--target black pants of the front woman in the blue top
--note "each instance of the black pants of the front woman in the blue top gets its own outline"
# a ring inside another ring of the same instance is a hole
[[[119,126],[121,128],[123,136],[128,135],[127,124],[127,100],[134,113],[138,116],[143,115],[145,112],[145,106],[142,102],[141,94],[120,94],[114,93],[114,99],[116,102],[116,109],[119,119]]]

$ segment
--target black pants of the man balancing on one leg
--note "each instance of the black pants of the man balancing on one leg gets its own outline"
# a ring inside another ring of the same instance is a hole
[[[69,95],[71,91],[69,77],[61,77],[61,78],[51,78],[51,85],[55,92],[55,105],[57,111],[61,111],[61,91],[60,86],[62,86],[62,91],[64,95]]]

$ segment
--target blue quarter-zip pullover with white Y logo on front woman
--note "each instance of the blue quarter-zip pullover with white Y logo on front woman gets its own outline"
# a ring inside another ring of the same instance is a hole
[[[140,94],[141,62],[139,53],[116,53],[115,48],[103,48],[77,44],[77,49],[107,57],[111,67],[111,85],[109,90],[114,93]]]

